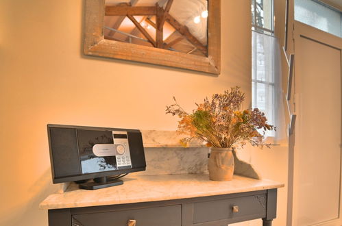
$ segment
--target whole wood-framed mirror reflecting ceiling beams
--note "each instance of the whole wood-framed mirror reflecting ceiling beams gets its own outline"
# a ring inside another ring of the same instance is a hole
[[[221,0],[85,0],[84,53],[219,75]]]

